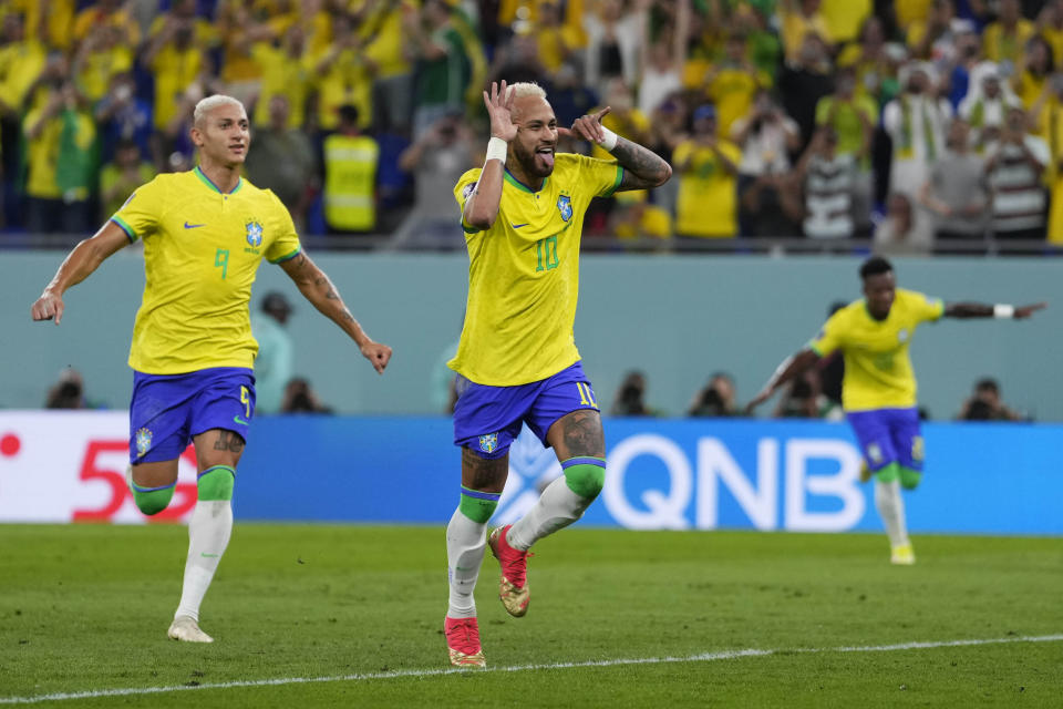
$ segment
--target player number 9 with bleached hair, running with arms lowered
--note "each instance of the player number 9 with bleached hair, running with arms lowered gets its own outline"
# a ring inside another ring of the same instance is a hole
[[[127,482],[147,515],[169,504],[177,459],[189,440],[198,502],[188,524],[180,603],[167,635],[211,643],[199,605],[233,531],[236,466],[255,414],[258,343],[248,302],[264,258],[279,264],[300,292],[358,345],[383,373],[391,348],[374,342],[329,280],[303,253],[288,209],[240,177],[250,144],[244,105],[214,95],[195,109],[192,140],[199,165],[158,175],[66,256],[33,304],[34,320],[63,317],[63,295],[123,246],[144,239],[146,284],[133,326]]]

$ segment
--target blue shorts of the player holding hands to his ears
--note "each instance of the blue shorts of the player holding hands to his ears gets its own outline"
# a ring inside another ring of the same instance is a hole
[[[454,444],[481,458],[497,459],[509,451],[522,422],[546,442],[550,427],[580,409],[598,411],[595,391],[576,362],[558,373],[517,387],[488,387],[457,376]]]

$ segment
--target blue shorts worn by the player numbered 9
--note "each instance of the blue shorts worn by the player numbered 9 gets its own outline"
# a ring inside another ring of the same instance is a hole
[[[247,441],[255,415],[255,374],[215,367],[187,374],[133,372],[130,462],[179,458],[193,436],[225,429]]]

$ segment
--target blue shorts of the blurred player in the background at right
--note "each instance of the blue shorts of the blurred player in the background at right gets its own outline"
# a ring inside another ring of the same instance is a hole
[[[878,472],[890,463],[922,471],[922,433],[919,430],[919,411],[915,407],[849,411],[846,418],[871,472]]]

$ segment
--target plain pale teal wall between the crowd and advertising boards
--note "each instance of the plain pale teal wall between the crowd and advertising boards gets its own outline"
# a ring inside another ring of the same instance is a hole
[[[395,356],[386,374],[376,376],[353,343],[267,264],[251,310],[268,290],[292,301],[295,373],[337,413],[442,413],[441,368],[461,331],[467,258],[312,255],[370,335],[391,345]],[[662,415],[683,415],[715,371],[734,378],[744,403],[816,332],[833,301],[860,297],[861,258],[585,255],[576,343],[602,411],[626,372],[636,369],[647,378],[647,403]],[[60,327],[33,323],[29,307],[61,259],[59,251],[8,251],[0,259],[0,408],[42,407],[65,367],[82,372],[91,402],[125,408],[143,259],[134,250],[117,254],[68,292]],[[912,359],[930,418],[954,418],[973,382],[992,376],[1012,408],[1040,421],[1063,420],[1063,383],[1055,371],[1063,353],[1063,282],[1054,261],[898,258],[895,267],[900,287],[949,301],[1052,304],[1025,322],[943,320],[920,328]]]

